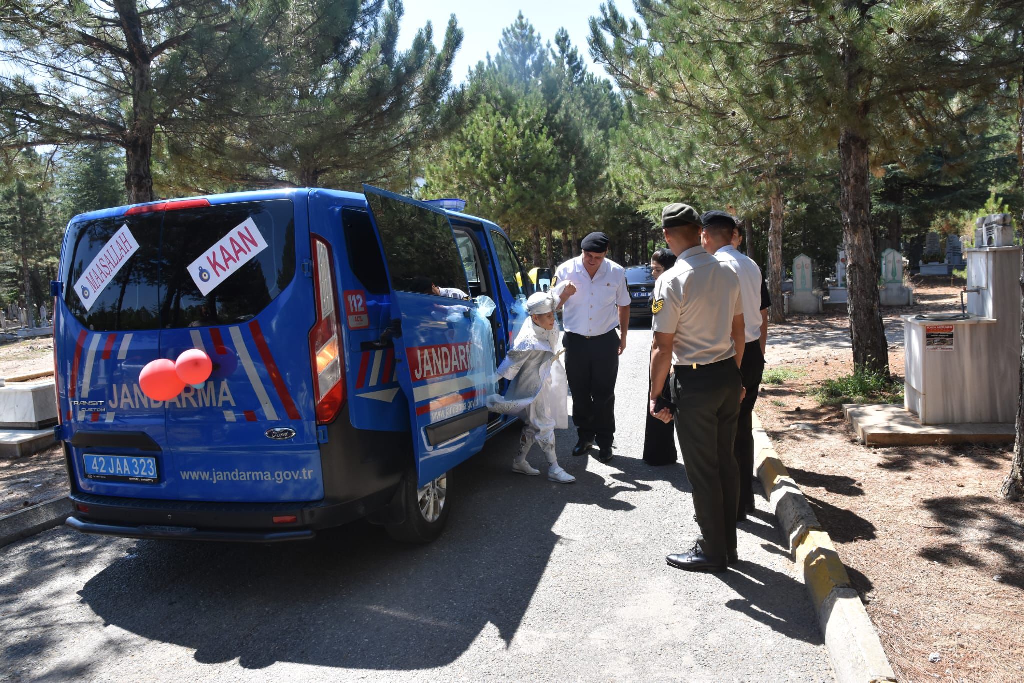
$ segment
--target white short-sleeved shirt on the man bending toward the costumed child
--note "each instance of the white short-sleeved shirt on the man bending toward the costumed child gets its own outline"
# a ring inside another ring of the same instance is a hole
[[[618,307],[630,305],[626,268],[605,258],[591,279],[581,255],[558,266],[553,288],[556,296],[561,296],[565,283],[577,287],[575,294],[566,299],[562,313],[566,331],[596,337],[618,327]]]

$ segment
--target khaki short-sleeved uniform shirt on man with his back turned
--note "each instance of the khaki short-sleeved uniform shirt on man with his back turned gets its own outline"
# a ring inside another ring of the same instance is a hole
[[[739,278],[703,247],[691,247],[654,284],[654,332],[671,332],[677,366],[707,366],[736,354],[732,318],[743,312]]]

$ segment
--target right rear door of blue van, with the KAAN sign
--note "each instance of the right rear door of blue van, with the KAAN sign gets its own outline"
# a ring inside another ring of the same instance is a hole
[[[167,477],[179,500],[324,496],[309,331],[307,203],[216,203],[164,218],[161,355],[199,348],[210,379],[167,401]],[[173,467],[170,466],[173,464]]]

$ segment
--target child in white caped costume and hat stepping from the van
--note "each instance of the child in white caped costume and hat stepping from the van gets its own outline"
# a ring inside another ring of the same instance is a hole
[[[562,299],[568,298],[563,294]],[[511,380],[505,395],[487,396],[487,408],[494,413],[519,416],[525,425],[519,440],[519,453],[512,461],[512,471],[540,474],[526,462],[536,441],[548,457],[548,478],[558,483],[571,483],[575,477],[558,464],[555,455],[555,429],[568,427],[568,382],[561,354],[565,350],[555,325],[555,310],[562,303],[549,292],[538,292],[526,300],[530,319],[523,324],[498,368],[498,377]]]

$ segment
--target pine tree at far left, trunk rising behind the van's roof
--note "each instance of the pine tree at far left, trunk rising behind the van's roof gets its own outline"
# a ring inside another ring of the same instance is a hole
[[[116,144],[125,151],[128,200],[154,199],[157,132],[194,132],[198,112],[252,69],[258,42],[240,4],[6,3],[0,150]]]

